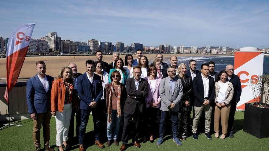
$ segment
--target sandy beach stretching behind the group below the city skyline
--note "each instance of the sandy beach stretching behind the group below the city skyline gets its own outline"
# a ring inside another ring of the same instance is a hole
[[[165,54],[164,55],[164,61],[168,61],[169,57],[172,54]],[[155,54],[151,55],[145,55],[148,59],[149,62],[153,62],[153,60],[156,58]],[[223,54],[219,55],[214,55],[214,54],[178,54],[175,56],[223,56]],[[124,61],[125,55],[120,55],[120,57]],[[134,59],[136,58],[135,55],[133,55]],[[92,59],[95,60],[95,56],[35,56],[35,57],[26,57],[24,64],[22,66],[21,72],[20,72],[20,78],[24,77],[32,77],[36,74],[35,71],[35,62],[39,60],[43,60],[46,63],[47,71],[46,74],[51,75],[53,77],[56,77],[61,68],[64,66],[67,66],[68,63],[76,63],[78,66],[78,72],[79,73],[84,73],[85,72],[85,61],[87,59]],[[111,55],[104,55],[103,56],[103,61],[107,63],[112,62],[112,56]],[[180,62],[180,60],[179,60]],[[0,73],[0,78],[6,78],[6,58],[0,58],[0,70],[2,71]],[[5,80],[1,80],[5,81]]]

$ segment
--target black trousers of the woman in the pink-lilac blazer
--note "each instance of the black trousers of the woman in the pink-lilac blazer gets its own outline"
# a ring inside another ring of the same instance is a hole
[[[160,116],[158,116],[160,108],[148,107],[144,114],[144,123],[146,128],[143,128],[144,135],[153,135],[158,131],[158,123],[160,122]]]

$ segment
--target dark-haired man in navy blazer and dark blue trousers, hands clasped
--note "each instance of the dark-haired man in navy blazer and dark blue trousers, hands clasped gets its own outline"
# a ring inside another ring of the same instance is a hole
[[[105,146],[100,142],[101,119],[100,110],[96,107],[103,96],[103,86],[101,77],[94,74],[95,63],[93,60],[86,61],[86,72],[78,77],[77,93],[80,98],[79,108],[81,110],[81,124],[79,127],[79,151],[84,151],[84,136],[86,126],[92,112],[94,121],[95,144],[99,148]]]

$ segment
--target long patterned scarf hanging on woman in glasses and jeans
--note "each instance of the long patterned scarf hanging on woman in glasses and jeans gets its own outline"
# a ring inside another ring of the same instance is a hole
[[[114,85],[113,82],[111,83],[111,88],[109,92],[109,101],[108,101],[108,122],[111,123],[111,111],[112,111],[112,95],[113,95]],[[118,85],[118,96],[117,96],[117,117],[121,116],[121,110],[120,110],[120,95],[121,95],[121,86]],[[116,94],[115,94],[116,95]]]

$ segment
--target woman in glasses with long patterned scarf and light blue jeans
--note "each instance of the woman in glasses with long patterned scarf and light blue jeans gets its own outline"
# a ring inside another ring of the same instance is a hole
[[[120,131],[120,119],[123,113],[124,101],[126,99],[126,88],[120,83],[120,72],[117,70],[112,71],[110,74],[110,80],[112,81],[109,84],[105,85],[105,100],[107,107],[107,146],[112,144],[112,140],[116,146],[119,145],[118,134]]]

